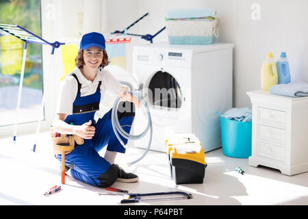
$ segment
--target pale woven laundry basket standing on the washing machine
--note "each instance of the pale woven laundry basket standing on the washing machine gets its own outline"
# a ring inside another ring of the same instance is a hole
[[[167,19],[170,44],[212,44],[218,38],[217,18]]]

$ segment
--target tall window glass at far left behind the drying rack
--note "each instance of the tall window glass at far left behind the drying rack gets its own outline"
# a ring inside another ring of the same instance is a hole
[[[0,23],[20,25],[41,36],[40,0],[0,0]],[[16,120],[24,42],[0,30],[0,127]],[[38,120],[42,101],[42,45],[27,45],[18,124]]]

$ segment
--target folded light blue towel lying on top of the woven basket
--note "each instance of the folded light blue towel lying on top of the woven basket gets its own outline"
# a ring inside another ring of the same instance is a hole
[[[201,18],[203,16],[216,16],[217,12],[207,8],[192,8],[182,10],[169,10],[166,14],[168,19]]]

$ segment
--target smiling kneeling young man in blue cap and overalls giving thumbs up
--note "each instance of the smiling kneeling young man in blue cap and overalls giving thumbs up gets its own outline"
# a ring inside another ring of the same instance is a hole
[[[129,133],[135,116],[135,100],[108,70],[105,38],[92,32],[85,34],[75,59],[76,67],[66,75],[61,84],[53,131],[75,134],[84,138],[84,144],[75,144],[75,149],[66,154],[68,175],[94,186],[108,187],[117,179],[122,182],[136,182],[138,176],[127,173],[114,164],[117,153],[125,153],[112,129],[111,112],[107,112],[97,123],[94,114],[105,92],[117,94],[123,102],[118,107],[118,120]],[[123,107],[121,109],[121,107]],[[121,137],[122,138],[122,137]],[[122,139],[127,144],[127,139]],[[107,145],[104,157],[99,151]],[[61,160],[61,155],[56,155]]]

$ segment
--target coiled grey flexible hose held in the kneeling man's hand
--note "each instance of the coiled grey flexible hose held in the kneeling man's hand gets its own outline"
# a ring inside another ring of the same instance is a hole
[[[141,155],[141,157],[139,157],[135,161],[127,163],[127,166],[131,166],[133,164],[136,164],[137,162],[140,162],[140,160],[143,159],[144,156],[149,152],[151,142],[152,142],[153,127],[152,127],[151,114],[149,112],[148,106],[146,105],[146,101],[144,101],[142,96],[140,96],[140,94],[138,94],[137,92],[134,92],[132,90],[127,90],[127,92],[136,96],[136,97],[138,97],[138,99],[140,99],[141,103],[144,105],[144,108],[146,109],[146,113],[147,113],[147,116],[148,116],[148,125],[146,125],[146,129],[144,129],[144,131],[142,133],[140,133],[139,135],[134,136],[134,135],[127,133],[121,127],[121,125],[118,121],[118,114],[116,112],[118,112],[118,104],[120,103],[120,97],[117,96],[116,101],[114,101],[114,106],[112,107],[112,129],[114,129],[114,134],[116,135],[116,138],[118,138],[118,141],[125,147],[125,144],[121,140],[120,136],[123,136],[127,140],[138,140],[140,138],[143,138],[150,129],[149,144],[146,147],[146,151],[144,151],[144,153]],[[119,136],[119,134],[120,134],[120,136]]]

